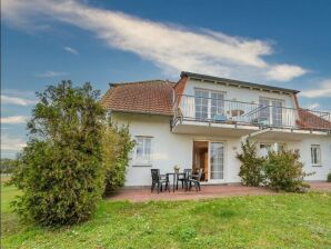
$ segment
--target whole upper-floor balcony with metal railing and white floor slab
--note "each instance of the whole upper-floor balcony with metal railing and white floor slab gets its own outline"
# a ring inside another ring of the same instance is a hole
[[[178,133],[265,137],[291,132],[302,137],[331,131],[331,113],[325,111],[194,96],[177,96],[173,110],[172,131]]]

